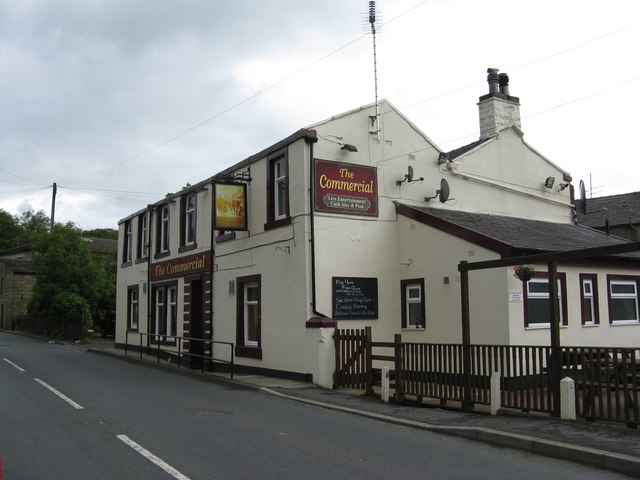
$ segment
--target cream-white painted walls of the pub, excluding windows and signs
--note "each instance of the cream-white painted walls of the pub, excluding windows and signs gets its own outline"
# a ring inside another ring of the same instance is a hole
[[[377,318],[338,320],[338,328],[372,326],[374,339],[383,341],[401,333],[404,341],[460,343],[457,265],[462,260],[498,259],[500,253],[447,229],[399,214],[398,204],[571,224],[570,188],[561,187],[569,183],[569,174],[524,142],[517,126],[502,127],[475,148],[439,161],[440,149],[389,102],[380,102],[379,111],[378,120],[375,105],[369,105],[319,122],[223,172],[226,176],[244,172],[245,179],[250,177],[248,231],[224,237],[219,232],[212,235],[212,182],[219,176],[123,219],[120,259],[124,255],[127,222],[132,224],[135,246],[140,215],[151,210],[154,212],[150,222],[151,268],[158,262],[202,253],[210,253],[212,260],[210,267],[193,275],[154,281],[149,276],[149,261],[137,259],[133,247],[131,263],[123,262],[118,271],[116,343],[122,346],[126,341],[131,287],[137,286],[139,291],[137,331],[148,333],[153,328],[155,309],[150,292],[167,282],[177,289],[175,334],[194,335],[189,317],[190,282],[195,278],[203,282],[202,334],[204,338],[236,344],[237,365],[263,372],[287,372],[321,383],[324,378],[326,384],[333,371],[332,329],[309,328],[309,323],[313,323],[309,320],[332,317],[334,277],[377,280]],[[356,146],[357,152],[342,149],[345,143]],[[288,164],[289,212],[287,221],[268,228],[270,162],[283,154]],[[350,166],[375,168],[377,215],[315,211],[316,183],[312,178],[316,160],[340,162],[347,170]],[[409,166],[413,168],[414,181],[399,184]],[[417,180],[420,177],[422,181]],[[555,178],[552,188],[543,185],[548,177]],[[449,200],[426,201],[425,197],[436,195],[442,179],[450,186]],[[190,192],[197,195],[197,246],[180,252],[180,199]],[[170,210],[170,254],[155,258],[157,208],[163,202],[168,202]],[[612,273],[638,276],[639,266],[634,262],[616,268],[604,264],[559,265],[559,272],[566,274],[567,287],[568,326],[561,329],[564,345],[639,343],[639,323],[609,324],[606,278]],[[544,266],[539,269],[544,270]],[[581,325],[580,273],[598,276],[597,326]],[[423,328],[403,328],[401,285],[403,280],[412,279],[424,283]],[[519,299],[526,284],[515,279],[511,269],[471,272],[470,280],[473,343],[549,344],[549,328],[525,327],[524,303]],[[238,349],[238,343],[243,341],[239,338],[239,309],[244,308],[239,306],[239,299],[244,300],[241,295],[250,295],[241,291],[256,282],[259,340],[244,350]],[[133,332],[129,343],[136,342],[139,339]]]

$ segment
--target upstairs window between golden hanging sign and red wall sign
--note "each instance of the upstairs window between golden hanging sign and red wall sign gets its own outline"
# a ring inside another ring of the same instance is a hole
[[[265,230],[291,223],[289,216],[289,162],[286,151],[267,159],[267,223]]]

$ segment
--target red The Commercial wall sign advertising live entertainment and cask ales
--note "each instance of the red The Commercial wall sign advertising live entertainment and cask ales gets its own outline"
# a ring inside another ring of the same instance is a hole
[[[316,160],[315,173],[316,211],[378,215],[375,167]]]

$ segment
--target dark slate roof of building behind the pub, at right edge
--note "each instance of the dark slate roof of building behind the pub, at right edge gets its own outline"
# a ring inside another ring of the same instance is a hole
[[[640,224],[640,192],[623,193],[608,197],[588,198],[587,213],[578,212],[578,223],[603,228],[609,219],[610,226]]]

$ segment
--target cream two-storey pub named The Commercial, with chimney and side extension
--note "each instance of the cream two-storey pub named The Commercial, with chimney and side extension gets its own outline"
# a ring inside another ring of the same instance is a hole
[[[237,370],[330,387],[334,328],[460,343],[461,261],[624,241],[575,223],[570,174],[524,141],[497,77],[471,144],[443,151],[382,100],[122,219],[116,346],[160,344],[194,368],[233,352]],[[536,267],[528,282],[470,276],[473,343],[548,344]],[[563,343],[637,345],[639,267],[634,254],[559,264]]]

